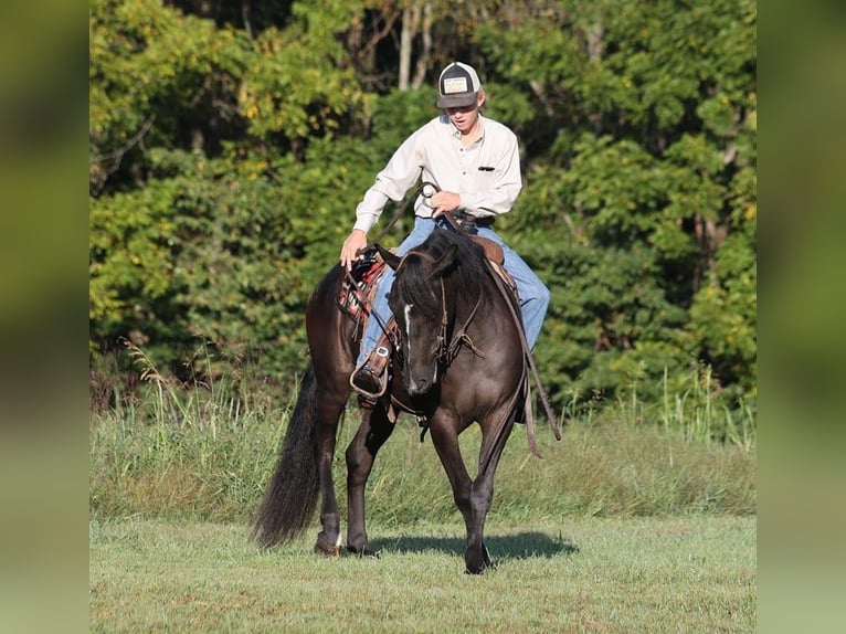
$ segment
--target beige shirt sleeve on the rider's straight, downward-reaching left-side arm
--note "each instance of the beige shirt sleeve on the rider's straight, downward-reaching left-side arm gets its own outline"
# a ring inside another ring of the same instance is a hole
[[[376,182],[364,192],[356,208],[352,229],[370,231],[382,215],[388,200],[399,202],[420,178],[423,169],[419,151],[421,130],[411,135],[396,149],[388,165],[376,176]]]

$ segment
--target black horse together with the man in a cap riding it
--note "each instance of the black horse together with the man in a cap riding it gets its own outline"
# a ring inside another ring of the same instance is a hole
[[[299,535],[319,501],[321,529],[315,550],[340,553],[341,516],[332,472],[351,374],[360,394],[384,392],[384,398],[377,395],[362,410],[346,452],[347,549],[359,556],[374,553],[366,529],[364,492],[377,453],[395,427],[395,405],[413,412],[429,430],[465,521],[465,569],[472,573],[491,563],[485,547],[485,518],[497,463],[520,410],[529,446],[539,455],[529,406],[529,370],[556,437],[561,438],[529,352],[543,321],[549,290],[490,229],[494,218],[509,211],[520,191],[517,139],[508,128],[479,114],[485,93],[470,66],[447,66],[441,74],[440,95],[437,105],[446,113],[403,142],[379,173],[358,207],[340,264],[320,281],[306,306],[311,360],[254,525],[253,535],[264,546]],[[414,230],[395,254],[378,247],[389,266],[359,346],[361,321],[340,304],[352,278],[351,265],[362,256],[367,231],[387,200],[401,200],[421,176],[437,191],[421,187]],[[516,283],[520,306],[476,240],[463,231],[436,231],[438,224],[452,224],[452,212],[457,211],[475,220],[467,223],[469,233],[501,246],[504,267]],[[392,310],[396,311],[399,347],[382,350],[377,344]],[[381,366],[373,362],[374,349]],[[380,376],[389,360],[394,361],[390,389]],[[458,435],[474,423],[482,431],[475,478],[467,472],[458,443]]]

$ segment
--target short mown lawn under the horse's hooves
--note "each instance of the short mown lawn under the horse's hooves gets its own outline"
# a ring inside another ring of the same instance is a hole
[[[754,631],[753,518],[491,519],[480,577],[457,521],[371,533],[379,559],[324,559],[314,533],[262,551],[242,525],[95,520],[91,631]]]

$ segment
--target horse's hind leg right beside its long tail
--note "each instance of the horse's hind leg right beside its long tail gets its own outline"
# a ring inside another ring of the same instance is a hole
[[[315,552],[327,557],[340,554],[340,513],[332,483],[332,459],[337,438],[338,421],[343,411],[343,401],[326,400],[318,405],[316,437],[317,473],[320,480],[320,525]]]

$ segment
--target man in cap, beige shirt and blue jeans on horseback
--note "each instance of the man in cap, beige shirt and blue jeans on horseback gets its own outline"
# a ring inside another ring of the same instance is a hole
[[[431,198],[414,202],[414,228],[396,250],[398,255],[420,245],[435,226],[445,223],[444,212],[457,210],[475,216],[477,233],[503,247],[504,266],[514,277],[520,296],[526,337],[530,347],[540,334],[549,305],[549,289],[529,266],[491,229],[494,219],[510,211],[522,188],[520,158],[515,134],[479,112],[486,95],[476,71],[461,62],[446,66],[438,78],[437,107],[444,114],[412,134],[376,177],[356,209],[356,223],[343,241],[340,262],[350,268],[367,245],[367,232],[376,225],[388,199],[400,201],[421,178],[437,186]],[[352,383],[376,394],[384,363],[371,359],[382,325],[391,317],[388,293],[393,271],[387,271],[373,299],[373,313],[361,341]],[[379,349],[384,357],[387,350]],[[380,368],[374,371],[373,368]]]

